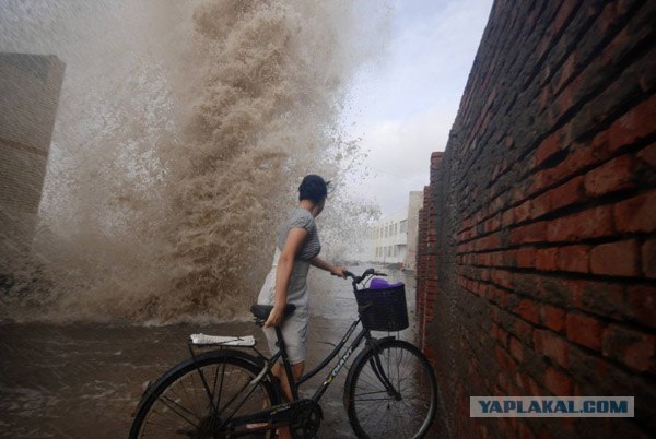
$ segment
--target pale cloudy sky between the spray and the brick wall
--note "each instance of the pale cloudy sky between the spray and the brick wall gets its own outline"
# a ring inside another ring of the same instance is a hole
[[[384,59],[355,81],[345,115],[371,169],[352,191],[383,214],[403,209],[429,183],[430,157],[444,151],[492,0],[395,1]]]

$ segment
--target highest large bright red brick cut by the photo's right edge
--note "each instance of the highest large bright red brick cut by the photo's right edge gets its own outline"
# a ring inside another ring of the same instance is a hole
[[[608,129],[610,151],[631,145],[656,130],[656,95],[633,107]]]

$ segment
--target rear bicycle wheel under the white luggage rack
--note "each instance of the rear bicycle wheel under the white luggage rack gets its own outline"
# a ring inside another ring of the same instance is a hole
[[[211,352],[189,358],[164,373],[144,393],[130,429],[130,439],[137,438],[220,438],[212,426],[221,423],[212,413],[207,388],[213,389],[212,401],[221,414],[236,408],[233,416],[259,412],[279,402],[270,378],[261,380],[245,398],[229,401],[243,391],[261,367],[255,357],[242,352]],[[201,373],[207,388],[202,383]],[[247,388],[247,387],[246,387]],[[250,388],[247,388],[249,391]],[[237,407],[242,404],[241,407]],[[232,416],[231,416],[232,417]],[[272,438],[274,432],[242,432],[233,437]]]

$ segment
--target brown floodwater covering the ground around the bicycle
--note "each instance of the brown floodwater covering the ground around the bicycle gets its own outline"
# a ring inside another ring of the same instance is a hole
[[[360,268],[358,270],[362,270]],[[353,271],[356,271],[355,269]],[[413,340],[414,278],[405,281]],[[350,284],[316,273],[313,287],[308,367],[331,351],[356,315]],[[256,293],[253,293],[256,296]],[[190,333],[253,334],[266,352],[259,328],[250,322],[212,325],[0,324],[0,438],[125,438],[144,383],[189,356]],[[306,383],[312,394],[328,370]],[[343,369],[320,401],[320,438],[354,437],[342,405]]]

